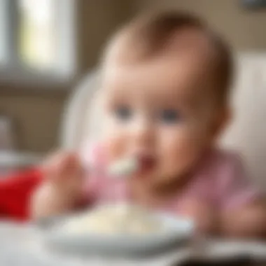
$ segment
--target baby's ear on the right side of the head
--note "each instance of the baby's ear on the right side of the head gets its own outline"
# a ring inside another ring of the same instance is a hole
[[[213,137],[218,139],[226,130],[232,121],[232,109],[230,106],[225,106],[217,113],[216,122],[214,123]]]

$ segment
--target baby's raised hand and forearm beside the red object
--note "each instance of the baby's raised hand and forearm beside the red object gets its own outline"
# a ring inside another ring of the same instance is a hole
[[[33,218],[71,211],[83,193],[83,168],[75,153],[57,153],[41,166],[44,181],[31,199]]]

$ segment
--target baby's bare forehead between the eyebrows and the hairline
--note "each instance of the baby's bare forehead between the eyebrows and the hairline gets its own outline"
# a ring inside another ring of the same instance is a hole
[[[170,43],[168,49],[145,60],[131,64],[117,60],[109,64],[105,69],[106,87],[122,93],[151,90],[157,94],[184,94],[186,97],[202,94],[211,83],[213,51],[207,41],[194,32],[184,32],[180,38],[179,48]]]

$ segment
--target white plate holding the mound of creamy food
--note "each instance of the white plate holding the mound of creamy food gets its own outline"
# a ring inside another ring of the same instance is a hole
[[[85,232],[83,235],[69,234],[62,230],[62,225],[71,216],[48,219],[38,226],[41,228],[45,246],[68,254],[150,255],[190,243],[194,229],[192,221],[166,214],[155,214],[155,217],[165,225],[166,230],[144,235],[99,235],[93,232]]]

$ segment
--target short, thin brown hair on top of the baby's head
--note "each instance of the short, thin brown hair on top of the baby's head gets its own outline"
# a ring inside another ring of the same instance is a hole
[[[172,36],[184,29],[195,29],[207,38],[216,53],[214,66],[219,99],[226,102],[233,76],[231,49],[206,22],[178,10],[141,15],[118,31],[106,49],[105,61],[123,64],[140,62],[165,49]],[[113,60],[112,60],[113,59]]]

